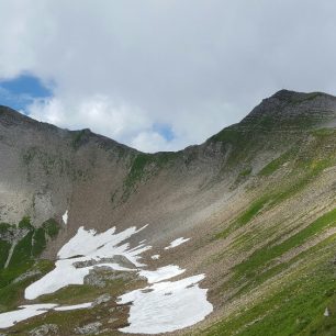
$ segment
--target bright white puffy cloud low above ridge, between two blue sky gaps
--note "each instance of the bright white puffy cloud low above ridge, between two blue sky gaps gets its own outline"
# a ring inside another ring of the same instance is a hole
[[[38,121],[69,130],[90,126],[97,133],[125,143],[152,126],[150,119],[139,108],[126,103],[116,104],[109,97],[100,94],[79,101],[40,99],[27,107],[27,112]]]

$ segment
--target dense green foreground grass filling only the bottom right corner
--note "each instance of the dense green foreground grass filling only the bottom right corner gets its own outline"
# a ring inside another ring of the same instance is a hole
[[[334,236],[305,251],[307,262],[291,279],[202,335],[335,335],[325,334],[336,329],[335,320],[323,316],[326,306],[336,314],[335,247]]]

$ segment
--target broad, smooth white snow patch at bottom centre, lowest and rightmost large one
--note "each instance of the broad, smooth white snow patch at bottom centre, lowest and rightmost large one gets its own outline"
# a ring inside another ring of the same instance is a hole
[[[132,334],[168,333],[191,326],[213,311],[206,301],[206,289],[198,282],[204,276],[194,276],[180,281],[155,283],[144,290],[135,290],[120,296],[119,303],[133,302],[130,326],[121,332]]]

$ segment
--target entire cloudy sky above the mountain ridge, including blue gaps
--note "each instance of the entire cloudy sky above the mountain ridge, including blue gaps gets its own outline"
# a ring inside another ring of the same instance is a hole
[[[336,94],[329,0],[1,0],[0,104],[144,152],[280,89]]]

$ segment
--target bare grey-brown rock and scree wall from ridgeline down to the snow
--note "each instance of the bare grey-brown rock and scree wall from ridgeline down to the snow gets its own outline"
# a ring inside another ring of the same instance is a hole
[[[202,223],[200,213],[213,203],[206,194],[210,187],[211,194],[229,191],[240,171],[259,170],[288,147],[280,135],[269,142],[257,128],[276,134],[334,120],[334,97],[282,90],[203,145],[145,155],[90,130],[60,130],[0,107],[0,221],[18,223],[30,216],[35,226],[52,217],[63,223],[68,211],[69,225],[51,247],[52,254],[80,225],[105,229],[113,224],[125,228],[155,223],[146,236],[165,239],[181,231],[180,223],[183,228]],[[246,131],[244,142],[237,143],[235,138]],[[287,132],[284,137],[298,141],[296,134]],[[233,166],[236,156],[239,164]]]

